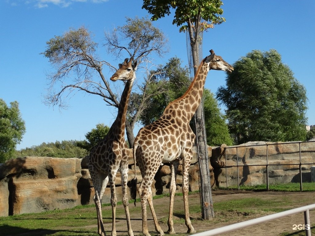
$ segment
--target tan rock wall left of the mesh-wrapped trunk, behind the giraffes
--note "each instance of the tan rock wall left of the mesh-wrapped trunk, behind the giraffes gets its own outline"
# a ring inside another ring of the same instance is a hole
[[[209,147],[211,151],[211,147]],[[88,170],[88,156],[77,158],[24,157],[0,165],[0,216],[65,209],[94,204],[95,194]],[[189,170],[189,188],[198,190],[196,158]],[[134,178],[132,152],[129,157],[128,181]],[[181,165],[177,171],[177,189],[181,192]],[[142,177],[136,167],[138,186]],[[152,183],[152,194],[169,192],[170,169],[160,167]],[[120,173],[116,177],[116,194],[122,199]],[[110,188],[105,189],[102,203],[110,203]],[[130,192],[128,191],[128,197]]]

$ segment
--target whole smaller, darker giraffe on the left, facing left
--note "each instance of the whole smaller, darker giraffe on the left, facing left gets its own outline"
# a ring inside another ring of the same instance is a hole
[[[116,236],[116,205],[117,197],[115,192],[115,179],[118,171],[121,173],[121,183],[123,192],[123,206],[125,208],[128,235],[133,236],[133,231],[130,223],[128,198],[126,193],[127,177],[128,177],[128,157],[129,149],[125,141],[125,121],[126,112],[128,108],[131,87],[135,80],[135,70],[137,61],[132,64],[133,58],[125,59],[123,64],[119,64],[119,69],[110,78],[112,81],[123,80],[127,81],[123,90],[120,103],[118,106],[117,118],[103,138],[93,149],[90,151],[89,158],[89,172],[93,181],[95,195],[93,197],[96,214],[98,234],[105,236],[101,200],[104,194],[107,183],[111,188],[111,205],[112,205],[112,236]]]

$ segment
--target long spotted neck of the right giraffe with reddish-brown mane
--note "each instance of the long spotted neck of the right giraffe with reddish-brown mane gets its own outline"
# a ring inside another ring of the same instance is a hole
[[[189,122],[195,114],[203,95],[203,87],[209,71],[209,63],[201,62],[196,72],[195,78],[187,89],[186,93],[177,98],[165,108],[163,115],[172,115],[177,112],[177,116],[186,118]],[[178,112],[180,111],[180,112]]]

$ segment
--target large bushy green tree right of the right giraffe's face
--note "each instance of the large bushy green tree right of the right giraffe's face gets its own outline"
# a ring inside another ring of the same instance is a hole
[[[216,97],[227,107],[230,132],[238,143],[304,141],[306,89],[280,54],[253,50],[233,67]]]

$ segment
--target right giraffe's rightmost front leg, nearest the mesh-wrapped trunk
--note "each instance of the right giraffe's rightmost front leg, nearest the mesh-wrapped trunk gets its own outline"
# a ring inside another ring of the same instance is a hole
[[[192,153],[189,152],[188,158],[183,158],[183,197],[184,197],[184,208],[185,208],[185,224],[188,228],[187,233],[196,233],[196,230],[192,227],[192,222],[189,218],[189,205],[188,205],[188,170],[190,166],[190,160],[192,159]]]

